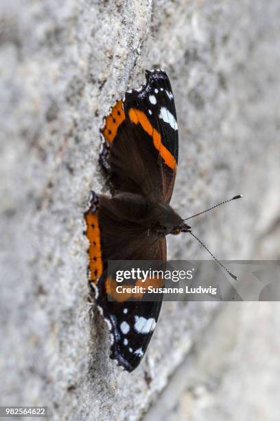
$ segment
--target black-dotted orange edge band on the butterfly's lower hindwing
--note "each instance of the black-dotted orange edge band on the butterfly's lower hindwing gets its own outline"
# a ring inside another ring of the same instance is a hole
[[[89,239],[89,279],[91,282],[97,280],[102,274],[102,255],[100,244],[100,228],[98,224],[98,213],[88,211],[86,219],[86,237]]]

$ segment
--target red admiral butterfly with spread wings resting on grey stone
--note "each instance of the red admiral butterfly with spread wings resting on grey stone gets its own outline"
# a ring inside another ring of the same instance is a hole
[[[139,365],[161,302],[108,301],[108,260],[166,260],[167,234],[190,227],[170,206],[178,163],[178,127],[170,80],[146,71],[141,89],[127,91],[101,129],[100,164],[112,197],[92,192],[84,214],[89,283],[109,324],[110,358],[127,371]]]

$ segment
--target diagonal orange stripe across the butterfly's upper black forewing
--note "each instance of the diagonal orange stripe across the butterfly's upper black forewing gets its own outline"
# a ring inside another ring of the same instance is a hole
[[[128,111],[128,115],[130,120],[135,123],[135,125],[140,124],[146,133],[148,133],[149,136],[151,136],[154,147],[159,151],[159,154],[161,155],[161,158],[163,158],[163,161],[167,166],[169,166],[173,171],[176,171],[176,160],[172,153],[168,151],[168,149],[164,146],[164,144],[161,142],[161,135],[154,127],[152,127],[150,121],[148,120],[148,117],[143,113],[143,111],[140,111],[139,109],[130,108]]]

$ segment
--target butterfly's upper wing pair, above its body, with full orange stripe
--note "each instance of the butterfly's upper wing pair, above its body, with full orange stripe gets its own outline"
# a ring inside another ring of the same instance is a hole
[[[170,202],[178,163],[178,127],[167,74],[146,72],[146,83],[117,101],[102,129],[100,162],[113,191]]]

